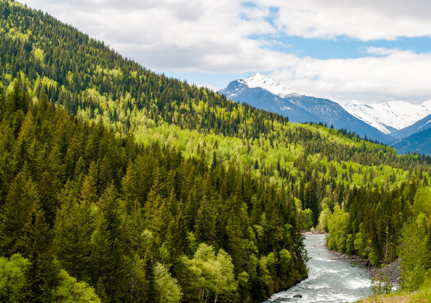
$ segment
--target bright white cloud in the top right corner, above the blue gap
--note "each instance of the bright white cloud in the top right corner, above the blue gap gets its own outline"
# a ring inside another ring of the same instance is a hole
[[[431,36],[431,2],[423,0],[256,0],[280,8],[277,26],[308,38],[363,41]]]

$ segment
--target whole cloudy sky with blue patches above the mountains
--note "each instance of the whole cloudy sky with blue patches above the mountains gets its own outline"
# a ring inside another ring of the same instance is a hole
[[[427,0],[25,0],[146,68],[213,89],[259,71],[333,101],[431,99]]]

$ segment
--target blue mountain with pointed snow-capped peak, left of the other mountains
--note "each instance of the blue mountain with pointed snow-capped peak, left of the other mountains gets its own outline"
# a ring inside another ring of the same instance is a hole
[[[234,80],[220,89],[219,93],[225,94],[227,99],[288,116],[291,122],[322,122],[337,129],[356,132],[362,137],[366,135],[379,142],[394,141],[394,137],[356,118],[339,104],[328,99],[299,94],[261,73]]]

